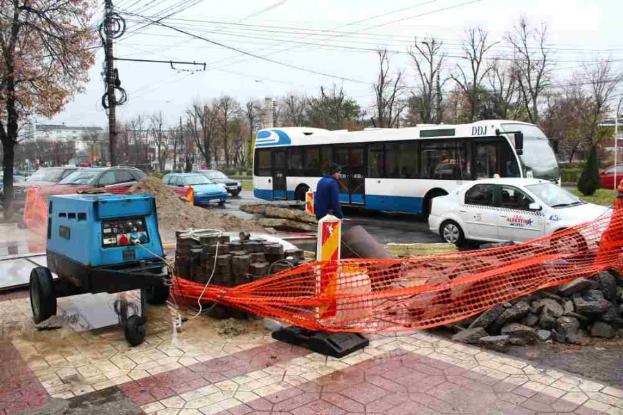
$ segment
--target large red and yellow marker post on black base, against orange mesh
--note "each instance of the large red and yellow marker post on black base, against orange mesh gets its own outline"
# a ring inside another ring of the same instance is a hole
[[[318,318],[334,317],[337,311],[336,291],[338,267],[340,259],[340,244],[342,221],[329,212],[318,221],[318,243],[316,248],[317,261],[332,261],[329,266],[323,266],[316,279],[316,290],[322,304],[318,307]]]

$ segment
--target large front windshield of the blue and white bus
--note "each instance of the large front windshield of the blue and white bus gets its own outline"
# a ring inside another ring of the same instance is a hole
[[[526,174],[547,181],[558,181],[560,172],[550,142],[534,125],[503,124],[505,131],[523,132],[523,155],[519,156]]]

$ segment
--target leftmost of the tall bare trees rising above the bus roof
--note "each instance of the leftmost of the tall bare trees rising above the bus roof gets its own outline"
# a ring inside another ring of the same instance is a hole
[[[390,58],[387,49],[377,50],[377,54],[379,55],[379,75],[377,82],[373,85],[377,127],[399,127],[400,116],[406,108],[402,82],[404,72],[398,71],[395,75],[390,73]]]

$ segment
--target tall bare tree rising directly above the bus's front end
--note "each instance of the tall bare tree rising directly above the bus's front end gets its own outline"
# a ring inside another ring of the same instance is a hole
[[[518,91],[532,124],[539,123],[539,98],[550,84],[551,49],[545,46],[547,39],[547,24],[530,28],[525,16],[519,19],[514,32],[507,35],[514,49]]]

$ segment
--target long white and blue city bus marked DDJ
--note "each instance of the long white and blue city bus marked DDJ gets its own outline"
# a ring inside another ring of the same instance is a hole
[[[341,203],[389,212],[428,214],[433,197],[496,174],[560,181],[548,138],[525,122],[363,131],[284,127],[258,132],[253,193],[304,201],[331,161],[343,168]]]

